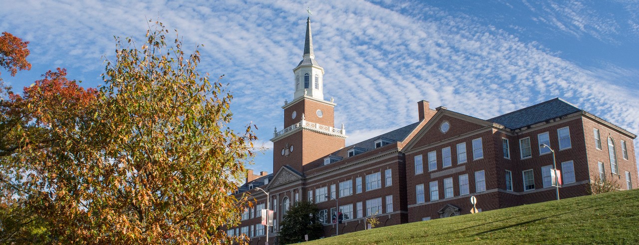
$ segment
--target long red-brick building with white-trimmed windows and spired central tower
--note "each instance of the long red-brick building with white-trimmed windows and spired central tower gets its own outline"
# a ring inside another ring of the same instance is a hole
[[[471,196],[479,211],[555,200],[553,156],[562,173],[560,198],[588,195],[595,178],[622,189],[638,186],[636,135],[559,98],[492,119],[432,110],[419,101],[416,123],[347,146],[344,126],[334,125],[336,104],[323,99],[324,70],[314,59],[310,20],[293,73],[284,130],[271,139],[275,174],[250,170],[238,189],[258,201],[228,232],[247,234],[251,244],[266,238],[260,225],[266,194],[255,188],[270,194],[273,244],[279,221],[299,200],[318,205],[327,237],[364,230],[370,216],[389,226],[468,214]],[[343,222],[335,224],[338,204]]]

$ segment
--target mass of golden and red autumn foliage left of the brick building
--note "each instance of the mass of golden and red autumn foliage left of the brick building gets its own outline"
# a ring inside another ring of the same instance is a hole
[[[171,35],[155,22],[142,45],[116,40],[99,89],[58,69],[3,94],[1,202],[46,229],[40,242],[244,241],[223,227],[250,205],[229,193],[256,137],[228,127],[233,96]]]

